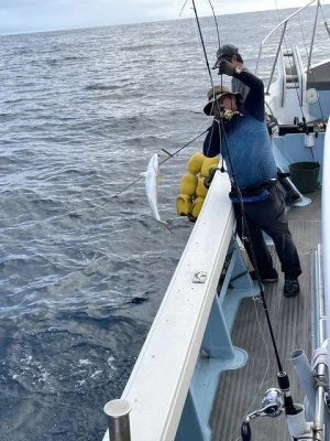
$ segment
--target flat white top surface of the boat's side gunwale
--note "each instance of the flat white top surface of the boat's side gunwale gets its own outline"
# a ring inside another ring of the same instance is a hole
[[[123,391],[132,441],[175,438],[234,225],[229,191],[218,171]],[[205,283],[193,282],[197,271]]]

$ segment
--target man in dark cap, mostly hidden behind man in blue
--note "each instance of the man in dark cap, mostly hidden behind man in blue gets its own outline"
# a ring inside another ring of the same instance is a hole
[[[233,44],[223,44],[220,49],[218,49],[217,62],[212,68],[219,69],[220,63],[222,60],[230,62],[237,68],[238,72],[244,71],[244,72],[251,73],[251,71],[249,71],[248,66],[244,64],[242,55],[239,53],[239,49],[237,46],[234,46]],[[240,92],[243,96],[243,99],[245,99],[249,94],[250,87],[246,86],[243,82],[241,82],[240,78],[232,77],[231,90]],[[270,118],[272,118],[272,117],[270,116]],[[272,125],[272,126],[268,127],[270,135],[272,135],[271,127],[274,127],[274,123],[276,125],[276,119],[274,117],[272,119],[270,120],[270,125]],[[290,182],[286,179],[287,175],[288,175],[287,173],[283,173],[283,171],[277,168],[278,181],[279,181],[280,185],[283,186],[283,190],[286,193],[285,194],[285,203],[287,205],[293,205],[297,202],[300,202],[301,196],[295,190],[295,187],[290,184]]]

